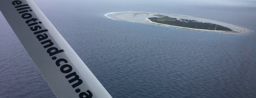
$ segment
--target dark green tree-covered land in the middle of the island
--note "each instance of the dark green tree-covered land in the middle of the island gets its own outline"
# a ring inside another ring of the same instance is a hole
[[[177,19],[177,18],[171,18],[171,17],[165,16],[165,15],[154,15],[154,16],[158,16],[160,18],[152,17],[148,19],[156,23],[179,26],[179,27],[188,27],[193,29],[233,31],[227,27],[220,26],[218,24],[213,24],[213,23],[204,23],[204,22],[199,22],[196,20],[189,20],[189,19]]]

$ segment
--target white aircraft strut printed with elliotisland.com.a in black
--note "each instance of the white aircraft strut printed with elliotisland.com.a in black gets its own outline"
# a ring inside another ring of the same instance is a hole
[[[32,0],[0,10],[58,98],[112,98]]]

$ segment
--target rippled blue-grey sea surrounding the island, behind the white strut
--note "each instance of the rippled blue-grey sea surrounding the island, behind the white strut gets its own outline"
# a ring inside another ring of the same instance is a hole
[[[256,32],[183,30],[109,12],[189,15],[256,31],[254,0],[34,0],[113,98],[256,98]],[[0,98],[56,98],[0,14]]]

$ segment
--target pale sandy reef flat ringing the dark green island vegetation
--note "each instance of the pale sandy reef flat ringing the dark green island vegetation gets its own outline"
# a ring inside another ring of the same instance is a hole
[[[219,24],[221,26],[228,27],[233,31],[193,29],[193,28],[188,28],[188,27],[179,27],[179,26],[155,23],[148,19],[151,17],[157,17],[154,15],[166,15],[171,18],[189,19],[189,20],[197,20],[199,22]],[[177,27],[177,28],[187,29],[187,30],[200,30],[200,31],[209,31],[209,32],[215,32],[215,33],[224,33],[224,34],[241,34],[242,35],[242,34],[249,34],[249,33],[254,32],[253,30],[249,30],[244,27],[236,26],[233,24],[218,22],[218,21],[211,20],[211,19],[196,18],[193,16],[187,16],[187,15],[165,14],[165,13],[156,13],[156,12],[111,12],[111,13],[105,14],[105,16],[110,19],[114,19],[114,20],[123,20],[123,21],[128,21],[128,22],[146,23],[146,24],[156,24],[156,25],[160,25],[160,26]]]

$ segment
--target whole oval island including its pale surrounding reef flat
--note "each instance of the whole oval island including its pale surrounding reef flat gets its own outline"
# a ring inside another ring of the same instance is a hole
[[[157,24],[189,30],[214,31],[225,34],[249,34],[254,31],[233,24],[187,15],[156,12],[111,12],[106,17],[137,23]]]

